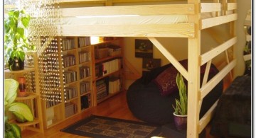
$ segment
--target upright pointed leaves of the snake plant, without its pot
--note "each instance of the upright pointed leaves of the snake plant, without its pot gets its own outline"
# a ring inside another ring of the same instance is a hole
[[[176,101],[176,106],[174,108],[174,113],[176,115],[187,115],[187,111],[188,111],[188,97],[187,97],[187,93],[186,93],[186,84],[184,84],[183,81],[183,77],[181,74],[177,74],[176,76],[176,84],[178,86],[178,93],[179,93],[179,97],[180,99]]]

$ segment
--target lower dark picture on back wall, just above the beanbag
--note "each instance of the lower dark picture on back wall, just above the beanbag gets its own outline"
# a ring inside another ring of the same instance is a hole
[[[151,59],[151,58],[144,58],[142,61],[142,68],[144,70],[151,70],[155,69],[156,67],[161,67],[161,59]]]

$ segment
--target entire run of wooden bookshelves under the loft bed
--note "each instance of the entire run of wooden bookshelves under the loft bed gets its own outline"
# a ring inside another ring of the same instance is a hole
[[[43,100],[43,120],[46,129],[78,113],[86,112],[124,88],[122,38],[106,40],[96,37],[61,36],[54,40],[58,43],[53,51],[57,55],[55,59],[58,69],[51,71],[51,74],[58,74],[59,85],[52,88],[58,89],[58,93],[52,95],[58,96],[59,100],[58,102]],[[100,55],[103,56],[100,58],[95,57],[97,51],[95,49],[102,47],[105,48],[105,55]],[[102,71],[101,76],[96,76],[95,69],[99,65],[105,67],[105,71],[104,73]],[[100,91],[99,88],[97,90],[97,84],[102,85],[101,88],[104,90]]]

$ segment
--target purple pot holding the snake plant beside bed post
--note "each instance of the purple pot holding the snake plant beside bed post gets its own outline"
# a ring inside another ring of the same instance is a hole
[[[175,124],[177,130],[186,130],[187,115],[176,115],[174,113],[174,124]]]

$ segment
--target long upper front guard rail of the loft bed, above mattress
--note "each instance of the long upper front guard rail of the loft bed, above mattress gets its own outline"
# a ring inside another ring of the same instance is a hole
[[[95,6],[85,8],[60,8],[61,17],[114,16],[114,15],[187,15],[194,14],[193,4],[139,5],[139,6]],[[93,11],[93,12],[92,12]]]

